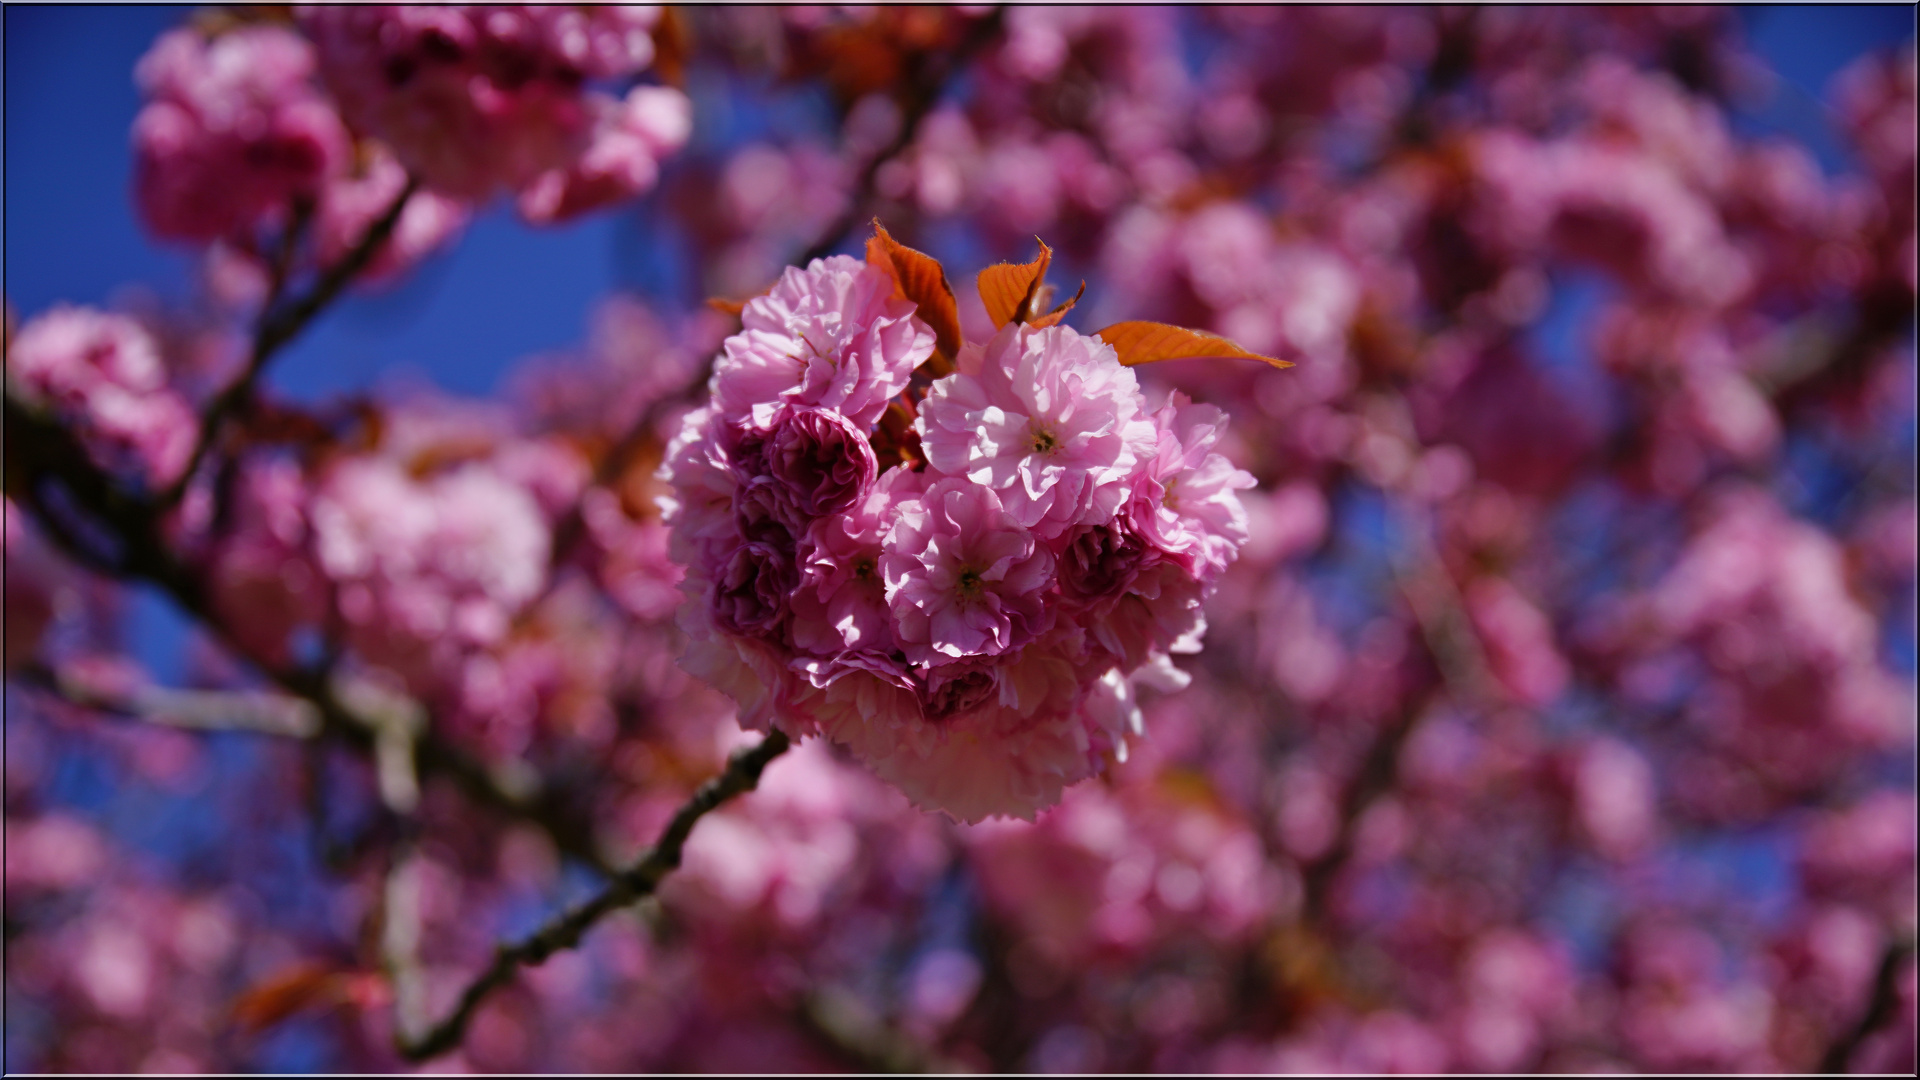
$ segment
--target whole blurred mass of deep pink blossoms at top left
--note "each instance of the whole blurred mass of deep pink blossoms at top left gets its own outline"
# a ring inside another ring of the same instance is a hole
[[[540,225],[605,208],[651,190],[691,129],[684,92],[636,83],[659,21],[647,6],[355,6],[169,31],[136,69],[136,204],[163,238],[252,256],[261,229],[311,219],[336,263],[413,177],[376,271],[501,192]]]

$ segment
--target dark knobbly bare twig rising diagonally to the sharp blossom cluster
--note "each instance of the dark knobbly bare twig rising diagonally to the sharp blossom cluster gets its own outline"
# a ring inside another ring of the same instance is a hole
[[[499,945],[493,951],[493,963],[467,986],[445,1020],[419,1040],[409,1040],[405,1032],[397,1034],[396,1045],[399,1053],[409,1061],[426,1061],[457,1047],[486,995],[505,986],[515,972],[522,967],[545,963],[547,957],[561,949],[574,947],[580,944],[582,934],[599,922],[601,917],[651,896],[660,878],[680,867],[680,855],[687,834],[693,832],[693,824],[707,811],[733,796],[751,792],[760,782],[760,771],[766,769],[768,761],[785,753],[787,746],[791,746],[787,736],[774,730],[758,746],[735,751],[728,759],[726,771],[701,784],[693,792],[693,798],[674,813],[674,819],[666,822],[666,830],[653,849],[647,851],[645,859],[616,874],[593,899],[555,917],[530,938],[515,945]]]

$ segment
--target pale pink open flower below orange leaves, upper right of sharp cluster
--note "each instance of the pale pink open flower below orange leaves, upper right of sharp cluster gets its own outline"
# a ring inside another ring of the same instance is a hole
[[[993,488],[1044,540],[1112,517],[1137,454],[1152,446],[1139,382],[1112,346],[1018,323],[973,373],[933,384],[918,430],[933,469]]]

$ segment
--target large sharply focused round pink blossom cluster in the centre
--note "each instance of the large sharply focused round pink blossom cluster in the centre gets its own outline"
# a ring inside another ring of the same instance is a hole
[[[1125,757],[1133,680],[1179,686],[1246,542],[1223,415],[1150,409],[1114,346],[1008,321],[918,404],[935,331],[849,256],[741,313],[662,477],[687,665],[741,723],[845,744],[916,803],[1031,817]]]

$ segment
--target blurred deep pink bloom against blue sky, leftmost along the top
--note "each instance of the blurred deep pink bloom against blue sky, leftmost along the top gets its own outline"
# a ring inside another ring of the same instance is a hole
[[[134,196],[175,240],[244,234],[313,198],[348,158],[348,131],[313,86],[313,48],[280,27],[213,40],[169,31],[134,71]]]

